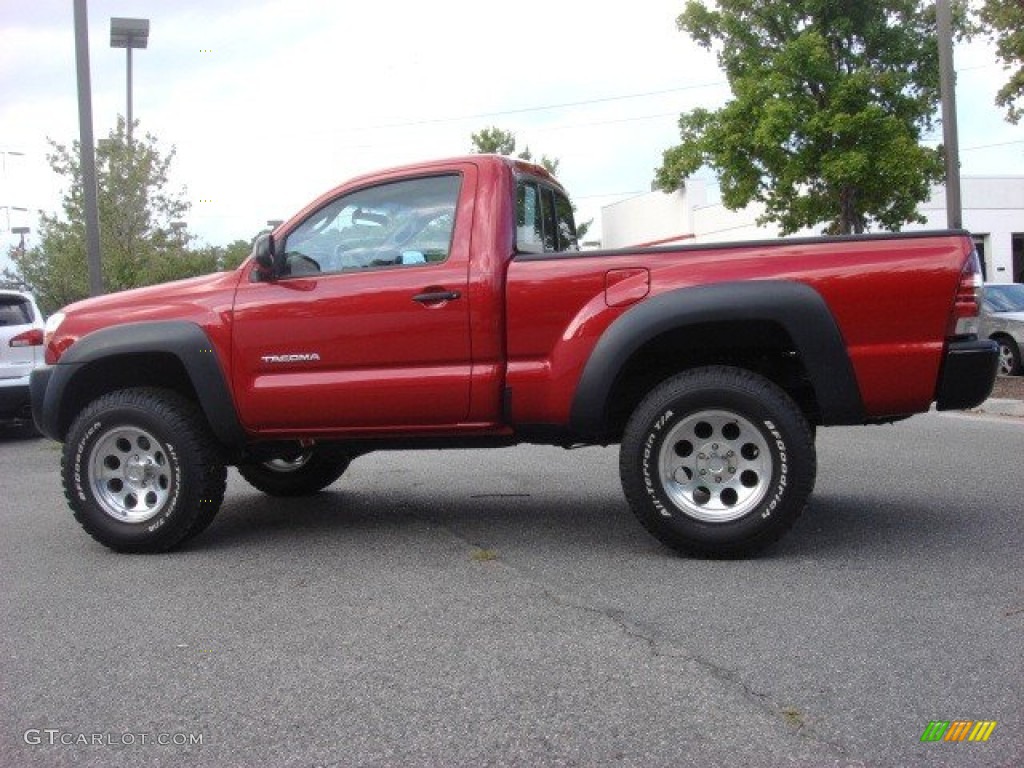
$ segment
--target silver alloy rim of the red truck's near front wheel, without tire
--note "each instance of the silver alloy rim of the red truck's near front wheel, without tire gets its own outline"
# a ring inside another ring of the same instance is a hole
[[[167,449],[137,427],[101,435],[89,455],[89,483],[103,512],[121,522],[146,522],[175,490]]]

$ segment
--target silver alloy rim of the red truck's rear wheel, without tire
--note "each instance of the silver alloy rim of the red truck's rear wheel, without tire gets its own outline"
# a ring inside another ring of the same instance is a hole
[[[672,428],[658,456],[662,486],[686,515],[729,522],[765,498],[772,456],[764,434],[728,411],[700,411]]]

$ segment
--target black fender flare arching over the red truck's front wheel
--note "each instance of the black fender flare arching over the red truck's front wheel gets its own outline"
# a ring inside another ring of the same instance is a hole
[[[67,425],[61,418],[61,403],[86,366],[154,352],[172,355],[181,362],[214,435],[224,445],[241,445],[245,430],[217,352],[200,326],[184,321],[127,323],[83,336],[57,365],[33,375],[33,416],[37,425],[44,434],[62,439]]]

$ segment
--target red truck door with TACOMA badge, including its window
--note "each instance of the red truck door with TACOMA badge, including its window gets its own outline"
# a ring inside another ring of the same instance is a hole
[[[247,427],[466,419],[475,184],[471,166],[381,181],[328,200],[281,236],[286,274],[254,272],[236,297],[232,380]]]

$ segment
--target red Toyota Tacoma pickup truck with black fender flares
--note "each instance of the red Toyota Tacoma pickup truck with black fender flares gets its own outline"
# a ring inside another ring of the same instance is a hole
[[[814,485],[819,426],[981,402],[966,232],[580,252],[542,168],[492,156],[353,179],[239,269],[73,304],[32,379],[66,495],[119,551],[217,513],[225,466],[316,493],[374,451],[621,443],[662,542],[739,556]]]

